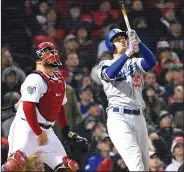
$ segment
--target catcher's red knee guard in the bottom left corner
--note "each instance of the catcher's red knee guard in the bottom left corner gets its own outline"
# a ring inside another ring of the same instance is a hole
[[[27,166],[28,159],[21,151],[16,151],[3,165],[4,171],[22,171]]]

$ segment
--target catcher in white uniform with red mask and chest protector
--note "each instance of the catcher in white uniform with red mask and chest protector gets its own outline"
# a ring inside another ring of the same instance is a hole
[[[9,156],[2,171],[22,171],[27,166],[27,158],[33,154],[55,171],[63,167],[76,171],[77,162],[67,157],[52,129],[57,120],[67,139],[85,141],[68,126],[63,106],[67,101],[66,84],[54,71],[61,65],[59,55],[52,43],[43,42],[38,46],[37,56],[36,70],[21,86],[21,103],[10,128]]]

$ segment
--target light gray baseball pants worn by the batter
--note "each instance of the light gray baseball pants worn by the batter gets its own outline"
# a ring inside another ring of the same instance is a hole
[[[149,171],[148,133],[143,112],[131,115],[113,112],[111,108],[107,129],[129,171]]]

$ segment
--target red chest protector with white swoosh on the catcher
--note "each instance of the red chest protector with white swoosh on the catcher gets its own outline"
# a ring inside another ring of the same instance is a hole
[[[57,79],[53,79],[39,70],[35,70],[33,73],[39,74],[47,84],[47,92],[40,98],[37,108],[47,121],[53,122],[57,120],[63,103],[65,95],[64,78],[57,72],[54,72]]]

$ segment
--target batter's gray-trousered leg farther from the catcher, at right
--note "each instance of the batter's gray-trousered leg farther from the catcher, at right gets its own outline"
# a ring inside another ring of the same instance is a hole
[[[145,171],[149,171],[149,142],[148,142],[148,131],[146,127],[146,121],[143,115],[137,116],[137,135],[138,143],[142,152],[142,160],[144,164]]]

